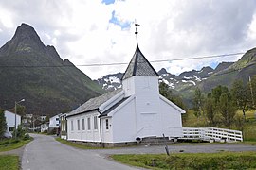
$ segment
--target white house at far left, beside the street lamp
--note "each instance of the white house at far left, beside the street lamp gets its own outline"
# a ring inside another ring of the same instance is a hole
[[[15,113],[5,110],[7,122],[7,135],[15,129]],[[21,116],[16,114],[16,128],[21,125]]]

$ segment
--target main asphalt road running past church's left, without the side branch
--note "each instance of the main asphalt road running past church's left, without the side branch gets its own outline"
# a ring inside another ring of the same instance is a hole
[[[61,144],[51,136],[31,134],[34,140],[27,144],[23,157],[23,170],[115,170],[136,169],[109,161],[94,152]]]

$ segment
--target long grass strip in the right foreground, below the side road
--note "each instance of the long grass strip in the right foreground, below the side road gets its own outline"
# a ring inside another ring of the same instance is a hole
[[[115,161],[149,169],[256,168],[256,152],[112,155]]]

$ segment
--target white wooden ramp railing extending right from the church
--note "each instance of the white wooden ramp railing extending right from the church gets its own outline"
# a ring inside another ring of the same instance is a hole
[[[218,142],[243,142],[242,131],[217,127],[183,127],[183,137],[180,139],[218,141]]]

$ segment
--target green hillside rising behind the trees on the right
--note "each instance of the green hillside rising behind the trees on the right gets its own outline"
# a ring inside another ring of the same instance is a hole
[[[214,74],[206,77],[203,81],[196,86],[183,87],[177,94],[180,95],[188,108],[192,108],[192,97],[196,87],[203,93],[209,93],[211,89],[218,85],[231,87],[232,83],[236,79],[243,80],[247,83],[249,76],[256,75],[256,48],[250,49],[247,53],[238,61],[231,64],[227,69],[220,70]]]

